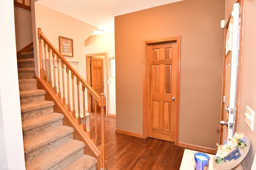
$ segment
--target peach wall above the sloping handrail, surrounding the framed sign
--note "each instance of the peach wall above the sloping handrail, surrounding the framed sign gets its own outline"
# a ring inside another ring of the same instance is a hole
[[[81,75],[86,78],[84,41],[97,27],[35,2],[35,27],[40,27],[47,39],[59,49],[59,36],[73,39],[74,57],[67,60],[81,61]],[[37,41],[38,42],[38,39]],[[37,71],[37,70],[36,70]]]

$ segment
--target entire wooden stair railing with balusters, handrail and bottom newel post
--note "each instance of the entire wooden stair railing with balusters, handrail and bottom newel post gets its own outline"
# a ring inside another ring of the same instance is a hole
[[[38,28],[39,40],[39,59],[40,59],[40,78],[44,80],[47,86],[55,94],[59,101],[65,106],[68,113],[77,122],[79,127],[84,131],[93,143],[99,148],[99,164],[100,169],[106,169],[106,144],[105,144],[105,126],[104,114],[106,106],[106,98],[104,93],[100,95],[90,86],[88,82],[71,66],[71,64],[63,57],[63,55],[50,43],[44,36],[41,28]],[[42,49],[42,45],[44,50]],[[65,71],[66,70],[66,71]],[[64,73],[66,72],[66,73]],[[66,74],[66,75],[65,75]],[[70,78],[71,77],[71,78]],[[70,90],[72,89],[72,90]],[[88,95],[88,112],[85,110],[85,89]],[[57,92],[58,91],[58,92]],[[67,98],[66,98],[67,96]],[[71,96],[71,97],[70,97]],[[81,97],[80,97],[81,96]],[[91,100],[96,100],[96,104],[100,106],[101,112],[101,138],[98,143],[97,134],[97,109],[95,107],[95,131],[92,135],[91,122]],[[72,102],[70,102],[72,101]],[[78,111],[76,113],[76,110]],[[82,110],[82,113],[80,112]],[[84,117],[83,125],[81,124],[81,115]],[[86,116],[88,117],[89,128],[86,128]],[[94,138],[92,137],[94,136]]]

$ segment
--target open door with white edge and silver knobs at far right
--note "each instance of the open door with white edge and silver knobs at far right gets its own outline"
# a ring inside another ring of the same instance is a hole
[[[220,124],[220,143],[234,135],[236,117],[236,92],[238,81],[238,56],[240,39],[240,4],[236,3],[226,31],[226,55],[224,60],[224,79],[222,87],[222,111]]]

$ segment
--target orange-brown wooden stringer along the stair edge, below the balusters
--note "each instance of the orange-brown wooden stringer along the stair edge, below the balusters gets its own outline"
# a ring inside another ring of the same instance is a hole
[[[46,84],[46,82],[42,79],[39,78],[35,74],[35,78],[37,80],[37,86],[38,89],[42,89],[46,91],[45,94],[45,99],[49,101],[54,102],[54,111],[58,113],[62,113],[64,115],[63,118],[63,124],[66,126],[73,127],[74,133],[73,133],[73,138],[79,141],[84,142],[85,147],[84,147],[84,154],[88,154],[90,156],[93,156],[97,159],[97,165],[96,168],[97,170],[100,169],[100,150],[96,145],[94,145],[93,141],[89,139],[88,135],[86,135],[84,131],[82,131],[82,125],[78,125],[77,118],[73,118],[70,113],[68,113],[67,108],[63,106],[62,102],[58,99],[58,96],[56,96],[52,90],[49,88],[49,86]]]

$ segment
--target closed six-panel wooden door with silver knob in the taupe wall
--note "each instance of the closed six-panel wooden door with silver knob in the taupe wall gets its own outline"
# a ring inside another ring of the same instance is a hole
[[[174,142],[177,42],[148,45],[147,136]]]

